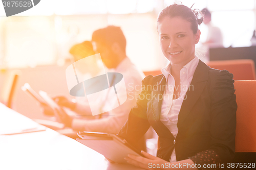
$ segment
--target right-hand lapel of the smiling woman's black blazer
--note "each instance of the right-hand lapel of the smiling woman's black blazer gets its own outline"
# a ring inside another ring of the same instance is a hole
[[[185,118],[199,99],[201,93],[203,92],[208,80],[208,70],[209,66],[199,60],[193,79],[190,83],[190,90],[188,88],[186,92],[186,99],[181,105],[177,123],[178,129],[180,129],[183,121],[185,120]]]

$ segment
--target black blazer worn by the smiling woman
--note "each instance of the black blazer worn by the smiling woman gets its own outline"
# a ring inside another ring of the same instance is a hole
[[[212,69],[199,60],[179,112],[179,131],[175,139],[160,121],[165,77],[147,76],[142,81],[139,100],[118,136],[133,144],[152,126],[160,141],[157,156],[166,161],[175,147],[177,161],[214,150],[221,162],[231,162],[235,152],[237,111],[232,78],[227,70]]]

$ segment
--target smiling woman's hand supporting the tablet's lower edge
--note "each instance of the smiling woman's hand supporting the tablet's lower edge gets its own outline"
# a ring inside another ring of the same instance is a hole
[[[128,157],[125,157],[124,159],[128,163],[144,169],[152,169],[153,165],[169,163],[144,151],[141,151],[141,153],[145,156],[145,158],[129,154]]]

